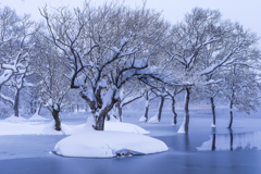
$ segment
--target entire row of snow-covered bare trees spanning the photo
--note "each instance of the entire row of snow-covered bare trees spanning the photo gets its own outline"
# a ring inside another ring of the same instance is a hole
[[[160,98],[157,122],[165,99],[172,101],[177,124],[176,97],[185,94],[185,116],[179,133],[188,133],[191,98],[215,100],[247,113],[259,105],[258,37],[238,23],[221,18],[216,10],[195,8],[177,24],[146,5],[132,9],[114,2],[83,8],[39,10],[45,23],[0,10],[0,98],[18,116],[20,94],[34,91],[61,130],[59,113],[82,97],[94,115],[92,127],[104,129],[109,112],[145,98]],[[32,97],[32,96],[30,96]]]

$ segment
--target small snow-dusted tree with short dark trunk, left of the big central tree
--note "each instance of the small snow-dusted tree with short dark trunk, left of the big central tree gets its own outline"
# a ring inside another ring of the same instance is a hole
[[[39,39],[39,44],[38,57],[34,61],[38,76],[35,87],[38,89],[40,105],[42,104],[51,112],[55,122],[54,128],[61,130],[59,114],[71,102],[69,97],[70,79],[66,78],[69,69],[62,65],[59,59],[60,51],[51,42]]]

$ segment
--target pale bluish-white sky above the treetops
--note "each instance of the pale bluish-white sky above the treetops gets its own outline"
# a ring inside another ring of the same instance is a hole
[[[92,3],[102,4],[105,0],[91,0]],[[110,1],[110,0],[108,0]],[[123,0],[119,0],[122,2]],[[0,0],[1,5],[15,9],[18,14],[30,13],[33,20],[41,18],[38,8],[49,4],[52,7],[71,5],[80,7],[84,0]],[[142,0],[125,0],[127,5],[141,5]],[[261,36],[261,0],[147,0],[147,7],[163,11],[165,20],[173,24],[182,21],[184,14],[192,8],[209,8],[220,10],[223,18],[239,22]]]

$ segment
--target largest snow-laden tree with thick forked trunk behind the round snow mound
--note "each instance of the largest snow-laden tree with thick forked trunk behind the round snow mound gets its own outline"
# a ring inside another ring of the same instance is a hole
[[[120,98],[120,89],[130,79],[151,74],[149,60],[167,25],[160,13],[145,7],[130,9],[116,3],[83,10],[66,8],[49,13],[41,10],[48,35],[71,69],[71,88],[79,88],[89,104],[97,130]]]

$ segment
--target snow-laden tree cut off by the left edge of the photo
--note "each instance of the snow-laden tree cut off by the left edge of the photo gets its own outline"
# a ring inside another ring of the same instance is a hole
[[[1,92],[0,97],[13,105],[15,116],[18,116],[21,90],[32,86],[26,77],[32,75],[29,61],[35,46],[32,36],[36,29],[28,15],[21,17],[10,8],[0,9],[0,86],[11,89],[11,96]]]

